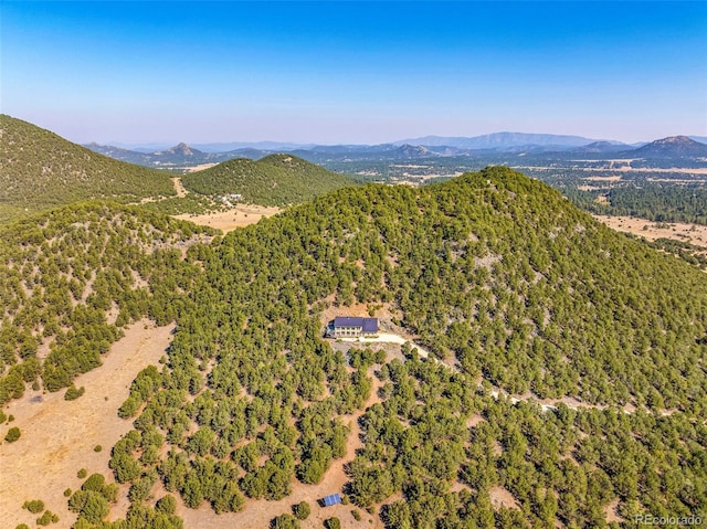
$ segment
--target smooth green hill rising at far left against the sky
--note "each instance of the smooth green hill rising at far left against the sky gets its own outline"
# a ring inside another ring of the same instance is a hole
[[[87,199],[175,194],[163,172],[101,156],[7,115],[0,115],[0,220]]]

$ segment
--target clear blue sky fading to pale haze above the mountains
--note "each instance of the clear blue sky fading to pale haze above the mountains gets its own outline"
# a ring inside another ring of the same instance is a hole
[[[701,1],[0,10],[0,112],[78,142],[707,136]]]

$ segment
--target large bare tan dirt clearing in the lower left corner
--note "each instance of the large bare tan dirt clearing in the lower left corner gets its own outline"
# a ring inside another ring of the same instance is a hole
[[[23,510],[22,504],[41,499],[59,515],[52,528],[68,528],[76,516],[68,511],[63,491],[80,488],[83,480],[76,473],[85,468],[88,475],[99,473],[113,480],[110,448],[133,424],[118,417],[118,408],[137,373],[165,355],[172,330],[173,326],[156,328],[148,320],[133,324],[102,357],[102,367],[76,378],[75,385],[86,392],[75,401],[65,401],[63,390],[30,391],[6,408],[4,413],[15,417],[11,425],[22,436],[0,445],[0,527],[22,522],[34,527],[39,515]],[[8,427],[0,430],[2,436]],[[94,452],[96,445],[102,446],[101,452]],[[125,516],[126,504],[120,499],[118,508],[112,509],[114,517]]]

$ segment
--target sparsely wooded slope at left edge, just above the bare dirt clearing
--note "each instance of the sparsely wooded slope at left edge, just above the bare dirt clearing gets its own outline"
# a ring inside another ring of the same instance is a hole
[[[172,321],[210,229],[91,203],[0,228],[0,404],[101,366],[127,322]]]

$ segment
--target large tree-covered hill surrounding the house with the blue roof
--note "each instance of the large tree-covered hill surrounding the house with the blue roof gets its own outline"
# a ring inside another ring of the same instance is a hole
[[[131,484],[127,527],[179,526],[157,482],[217,512],[319,483],[352,456],[344,417],[374,388],[342,491],[387,527],[594,528],[707,509],[704,274],[540,182],[493,168],[340,190],[194,245],[184,266],[203,272],[169,362],[120,410],[135,421],[110,462]],[[397,315],[439,360],[333,349],[321,310],[355,301]],[[510,500],[494,504],[498,490]]]

